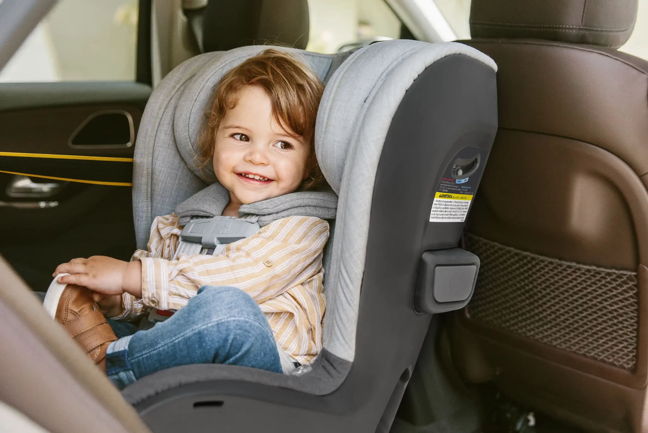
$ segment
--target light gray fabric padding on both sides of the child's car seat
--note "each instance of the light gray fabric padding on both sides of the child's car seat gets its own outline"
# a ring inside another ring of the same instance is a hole
[[[207,185],[209,175],[195,161],[211,90],[229,69],[266,48],[202,54],[179,65],[155,89],[135,148],[133,213],[138,248],[146,248],[156,215],[170,213]],[[335,57],[286,50],[301,56],[320,78],[327,75]],[[373,181],[391,117],[428,65],[455,54],[496,69],[489,57],[460,43],[393,40],[353,53],[325,88],[316,123],[316,152],[340,201],[331,268],[325,277],[328,305],[323,347],[343,360],[354,358]],[[173,125],[172,131],[168,124]]]

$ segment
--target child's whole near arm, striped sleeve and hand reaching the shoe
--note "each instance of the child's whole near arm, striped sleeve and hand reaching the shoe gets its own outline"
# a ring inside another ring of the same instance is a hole
[[[233,286],[257,303],[304,283],[321,268],[329,224],[315,217],[288,217],[226,247],[225,255],[181,255],[179,260],[145,257],[124,262],[94,256],[56,268],[60,283],[103,294],[132,294],[145,305],[178,310],[204,285]]]

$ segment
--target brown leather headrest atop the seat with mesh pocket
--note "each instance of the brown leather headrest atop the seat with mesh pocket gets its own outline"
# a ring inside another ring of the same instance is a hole
[[[534,38],[618,48],[638,0],[473,0],[472,38]]]

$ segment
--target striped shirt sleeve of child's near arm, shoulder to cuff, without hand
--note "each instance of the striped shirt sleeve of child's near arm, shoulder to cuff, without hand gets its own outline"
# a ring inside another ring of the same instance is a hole
[[[177,310],[198,288],[213,285],[238,287],[262,303],[317,274],[328,237],[325,220],[288,217],[229,244],[224,255],[142,259],[143,301],[158,309]]]

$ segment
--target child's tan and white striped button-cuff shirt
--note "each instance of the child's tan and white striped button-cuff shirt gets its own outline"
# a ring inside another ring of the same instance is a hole
[[[133,320],[152,308],[178,310],[203,285],[234,286],[257,304],[272,328],[277,345],[308,363],[322,347],[322,252],[329,223],[316,217],[287,217],[255,235],[228,244],[219,255],[180,255],[182,226],[174,214],[156,217],[142,262],[142,299],[122,295],[123,311],[115,319]]]

